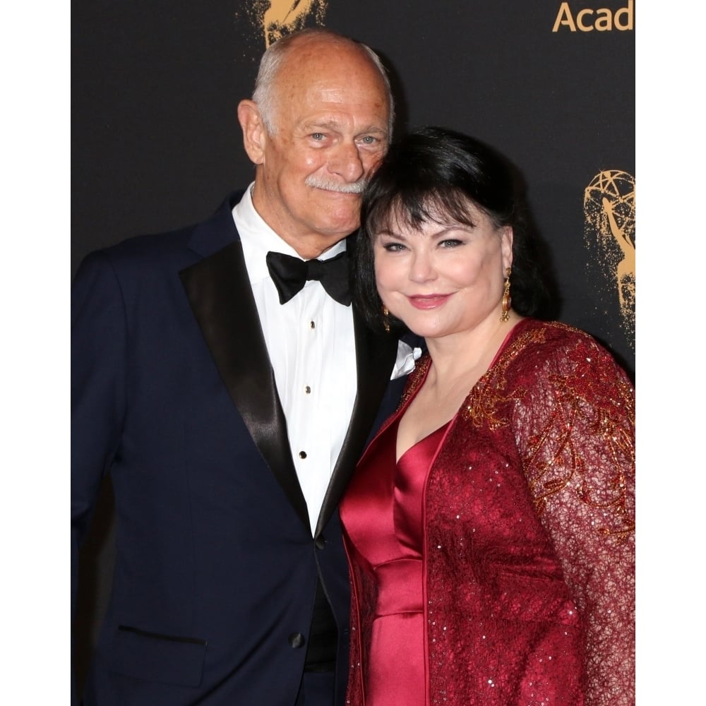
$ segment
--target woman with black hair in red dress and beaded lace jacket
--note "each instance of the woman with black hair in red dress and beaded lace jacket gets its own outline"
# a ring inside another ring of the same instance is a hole
[[[532,318],[513,179],[442,128],[363,200],[354,297],[429,354],[341,507],[354,706],[634,701],[634,393],[592,337]]]

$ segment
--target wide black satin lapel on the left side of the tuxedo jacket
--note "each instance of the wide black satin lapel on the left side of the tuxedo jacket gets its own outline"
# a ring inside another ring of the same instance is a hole
[[[229,395],[287,498],[309,527],[240,241],[182,270],[179,277]]]

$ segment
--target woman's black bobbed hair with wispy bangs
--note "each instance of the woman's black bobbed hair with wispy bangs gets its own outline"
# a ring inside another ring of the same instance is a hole
[[[376,234],[389,230],[393,219],[413,229],[429,220],[475,225],[469,203],[495,227],[513,228],[512,306],[522,316],[539,316],[548,292],[516,182],[511,165],[498,152],[448,128],[420,128],[393,143],[366,186],[352,249],[352,296],[369,325],[377,330],[385,325],[375,283]],[[392,316],[388,323],[403,328]]]

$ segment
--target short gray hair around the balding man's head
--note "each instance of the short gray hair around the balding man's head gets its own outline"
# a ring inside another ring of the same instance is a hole
[[[253,91],[252,100],[258,104],[258,109],[260,110],[260,115],[263,119],[263,124],[265,125],[265,129],[268,131],[268,134],[274,135],[277,130],[277,125],[275,123],[275,112],[277,109],[275,79],[277,78],[277,72],[280,71],[280,67],[282,66],[282,61],[285,60],[287,54],[289,54],[292,48],[296,46],[299,39],[303,37],[316,36],[326,37],[333,42],[339,42],[340,44],[358,47],[362,52],[369,56],[369,59],[380,72],[380,76],[385,84],[385,92],[387,92],[388,104],[390,105],[388,138],[392,139],[393,124],[395,122],[395,100],[393,98],[392,88],[390,88],[390,79],[388,78],[387,69],[383,65],[380,57],[373,52],[367,44],[357,42],[356,40],[352,40],[350,37],[346,37],[345,35],[340,35],[337,32],[332,32],[331,30],[317,27],[306,28],[305,30],[292,32],[292,34],[282,37],[282,39],[277,40],[274,44],[270,44],[260,60],[260,68],[258,69],[258,76],[255,80],[255,90]]]

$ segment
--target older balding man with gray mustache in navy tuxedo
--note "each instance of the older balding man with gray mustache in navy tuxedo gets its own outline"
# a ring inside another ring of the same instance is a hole
[[[74,282],[74,580],[107,472],[118,522],[86,706],[345,698],[337,503],[400,358],[350,306],[346,237],[390,88],[370,49],[304,30],[265,52],[238,116],[249,189]]]

